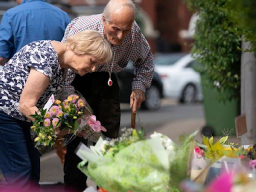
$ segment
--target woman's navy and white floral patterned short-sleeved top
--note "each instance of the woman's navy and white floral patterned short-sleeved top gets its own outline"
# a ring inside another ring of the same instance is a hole
[[[39,40],[23,46],[0,69],[0,111],[13,118],[29,121],[18,111],[18,105],[30,68],[50,79],[48,87],[36,104],[37,107],[44,104],[52,93],[61,90],[62,71],[58,63],[58,55],[50,41]]]

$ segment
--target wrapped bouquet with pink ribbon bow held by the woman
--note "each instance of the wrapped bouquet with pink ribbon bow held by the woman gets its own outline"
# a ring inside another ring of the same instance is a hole
[[[39,113],[30,115],[34,118],[31,135],[35,147],[41,154],[51,149],[58,149],[75,136],[91,137],[94,141],[103,136],[100,130],[106,131],[92,115],[92,110],[78,94],[62,92],[57,96],[50,108],[41,109]],[[64,98],[64,99],[63,99]],[[53,147],[54,146],[54,147]]]

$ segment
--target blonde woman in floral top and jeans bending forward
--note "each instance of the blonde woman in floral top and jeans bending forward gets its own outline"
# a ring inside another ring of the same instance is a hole
[[[29,115],[54,92],[61,90],[67,68],[79,75],[93,72],[112,56],[98,32],[85,30],[65,43],[40,40],[22,47],[0,69],[0,169],[5,186],[26,191],[38,185],[39,153],[30,138]]]

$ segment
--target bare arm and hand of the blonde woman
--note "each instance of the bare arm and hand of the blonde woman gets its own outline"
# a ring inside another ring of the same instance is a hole
[[[40,112],[35,104],[47,88],[49,81],[50,79],[43,73],[38,72],[33,68],[30,69],[25,86],[19,98],[18,110],[32,121],[34,118],[29,115],[34,114],[35,111],[37,113]]]

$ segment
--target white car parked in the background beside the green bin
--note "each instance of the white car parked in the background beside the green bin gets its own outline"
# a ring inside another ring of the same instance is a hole
[[[192,68],[195,64],[190,54],[155,56],[155,71],[162,79],[164,97],[175,98],[183,103],[202,100],[200,74]]]

